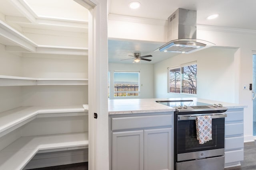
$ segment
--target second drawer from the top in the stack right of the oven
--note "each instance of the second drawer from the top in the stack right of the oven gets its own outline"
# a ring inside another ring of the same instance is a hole
[[[225,137],[241,136],[244,134],[244,123],[230,123],[225,125]]]

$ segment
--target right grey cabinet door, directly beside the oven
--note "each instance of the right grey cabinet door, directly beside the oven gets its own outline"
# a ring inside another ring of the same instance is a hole
[[[144,130],[144,170],[173,169],[172,128]]]

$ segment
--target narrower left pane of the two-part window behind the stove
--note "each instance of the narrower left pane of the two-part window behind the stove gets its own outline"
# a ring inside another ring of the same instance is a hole
[[[170,70],[170,92],[180,93],[180,68]]]

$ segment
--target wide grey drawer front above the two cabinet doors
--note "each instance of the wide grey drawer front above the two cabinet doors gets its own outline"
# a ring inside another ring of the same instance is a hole
[[[134,117],[113,117],[112,131],[146,127],[172,126],[173,114]]]

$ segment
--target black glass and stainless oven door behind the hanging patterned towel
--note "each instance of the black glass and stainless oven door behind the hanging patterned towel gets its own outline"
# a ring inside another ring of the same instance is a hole
[[[212,115],[212,140],[204,144],[199,144],[199,141],[196,139],[196,116],[198,115]],[[176,115],[177,161],[224,154],[224,128],[226,114],[208,113],[198,115]]]

